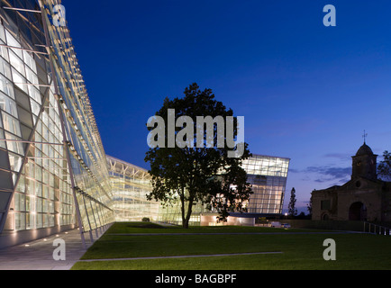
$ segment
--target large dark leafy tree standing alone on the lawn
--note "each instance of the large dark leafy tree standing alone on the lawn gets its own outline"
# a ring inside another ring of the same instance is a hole
[[[246,172],[241,168],[241,161],[250,156],[248,144],[242,143],[236,157],[229,155],[230,151],[232,153],[232,139],[238,136],[238,120],[233,117],[232,109],[226,109],[222,102],[216,101],[211,89],[201,91],[196,84],[186,87],[184,94],[183,98],[166,98],[151,121],[153,125],[147,125],[150,141],[155,145],[150,145],[145,161],[150,162],[152,176],[152,192],[147,195],[148,199],[155,199],[163,205],[179,202],[182,225],[188,228],[196,203],[214,208],[225,220],[230,211],[246,211],[244,203],[252,191]],[[178,123],[180,116],[189,118]],[[216,121],[208,132],[207,124],[195,121],[200,119],[197,117],[203,119],[205,116],[214,120],[223,117],[225,127],[222,128],[221,121]],[[163,123],[158,121],[161,119]],[[231,137],[228,126],[233,127]],[[212,147],[201,145],[208,141]],[[239,145],[235,150],[238,149]]]

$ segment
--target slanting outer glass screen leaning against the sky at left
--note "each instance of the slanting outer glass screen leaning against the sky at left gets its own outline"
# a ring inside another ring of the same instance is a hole
[[[41,1],[43,11],[55,14],[60,1]],[[77,63],[75,49],[66,26],[54,26],[43,14],[48,28],[52,68],[58,85],[59,102],[64,115],[68,156],[74,176],[77,203],[84,210],[84,230],[96,229],[114,221],[113,194],[106,167],[105,150],[97,130],[95,116],[86,93],[86,85]],[[101,215],[98,221],[97,215]]]

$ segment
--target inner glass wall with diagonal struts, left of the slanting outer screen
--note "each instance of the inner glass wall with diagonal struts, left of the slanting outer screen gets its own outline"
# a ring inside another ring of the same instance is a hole
[[[17,7],[37,10],[32,1]],[[0,11],[0,231],[75,223],[44,35],[36,15]]]

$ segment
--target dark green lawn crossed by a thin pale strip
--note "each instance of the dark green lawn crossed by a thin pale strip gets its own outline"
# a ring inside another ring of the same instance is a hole
[[[262,233],[262,234],[257,234]],[[336,260],[323,259],[323,240],[336,242]],[[269,255],[77,262],[72,269],[266,270],[391,269],[391,237],[314,229],[258,227],[165,228],[115,223],[81,259],[169,257],[250,252]]]

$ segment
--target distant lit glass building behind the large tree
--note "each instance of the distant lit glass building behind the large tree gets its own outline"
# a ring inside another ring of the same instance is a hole
[[[246,213],[232,213],[236,217],[275,216],[282,212],[286,189],[289,158],[253,155],[244,160],[242,167],[252,184]],[[152,191],[148,171],[107,156],[110,179],[113,184],[115,220],[158,220],[181,225],[182,214],[179,203],[162,206],[159,202],[148,201],[146,194]],[[214,211],[212,211],[214,212]],[[190,225],[200,225],[201,215],[208,215],[202,204],[193,207]]]

